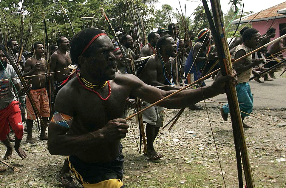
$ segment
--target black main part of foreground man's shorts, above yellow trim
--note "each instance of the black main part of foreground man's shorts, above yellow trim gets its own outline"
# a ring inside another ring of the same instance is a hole
[[[120,179],[122,181],[124,173],[124,156],[122,154],[122,148],[122,144],[120,144],[117,158],[109,162],[87,163],[80,160],[75,155],[69,156],[69,162],[72,164],[72,167],[78,172],[78,174],[82,176],[83,181],[88,182],[89,184],[96,184],[108,179]],[[82,183],[81,179],[78,179],[78,181]]]

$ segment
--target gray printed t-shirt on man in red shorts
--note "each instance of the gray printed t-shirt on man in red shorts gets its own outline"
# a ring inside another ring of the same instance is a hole
[[[4,72],[3,72],[4,71]],[[2,78],[1,78],[2,77]],[[0,70],[0,110],[6,108],[12,101],[17,101],[13,92],[13,84],[20,83],[20,80],[12,65],[7,64],[6,70]],[[18,78],[13,80],[1,81],[9,78]],[[11,83],[13,82],[13,84]]]

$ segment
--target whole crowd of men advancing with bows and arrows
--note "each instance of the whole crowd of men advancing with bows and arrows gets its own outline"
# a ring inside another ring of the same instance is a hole
[[[42,117],[39,139],[48,140],[50,154],[67,156],[56,179],[65,187],[124,187],[124,157],[120,140],[126,136],[129,127],[125,120],[126,101],[138,97],[142,99],[142,104],[135,105],[143,109],[179,90],[183,84],[197,81],[209,69],[219,68],[219,64],[215,64],[217,54],[211,31],[207,28],[197,33],[194,43],[193,38],[184,43],[180,38],[180,27],[176,24],[149,33],[147,44],[143,44],[135,29],[129,34],[121,27],[115,30],[123,51],[115,38],[111,40],[104,30],[98,28],[81,30],[71,42],[64,36],[58,38],[57,44],[51,45],[48,50],[50,71],[56,72],[52,74],[47,72],[43,43],[32,44],[31,51],[24,52],[21,58],[18,57],[19,45],[15,39],[7,41],[6,48],[1,44],[1,49],[7,50],[0,50],[0,138],[7,147],[4,159],[12,157],[10,141],[14,138],[9,135],[10,129],[15,134],[16,152],[21,158],[27,156],[20,147],[24,135],[23,121],[27,122],[26,141],[36,142],[32,136],[36,115],[30,99],[25,97],[25,93],[30,92]],[[286,28],[281,33],[284,35]],[[275,29],[270,28],[261,36],[258,30],[245,27],[240,34],[241,37],[230,45],[234,59],[268,43],[275,37]],[[200,110],[197,102],[225,93],[225,81],[233,80],[240,110],[251,113],[253,97],[248,84],[251,74],[261,82],[262,70],[280,63],[279,56],[284,49],[286,41],[281,39],[269,49],[262,49],[234,64],[234,74],[212,75],[214,82],[210,86],[201,82],[162,101],[159,106],[145,110],[142,117],[146,123],[147,157],[152,160],[163,157],[154,149],[154,140],[160,127],[163,127],[164,108]],[[30,76],[29,90],[22,87],[6,53],[16,60],[20,59],[18,66],[23,76]],[[134,60],[143,57],[147,58],[143,70],[135,74],[137,76],[132,75],[129,71],[132,67],[136,69],[137,61]],[[77,69],[71,72],[68,68],[70,64],[76,65]],[[269,72],[271,78],[264,74],[264,81],[275,78],[274,71]],[[47,92],[49,81],[52,83],[51,109]],[[220,108],[225,121],[229,113],[227,106]],[[248,116],[245,113],[241,114],[242,120]],[[72,180],[70,170],[81,185]]]

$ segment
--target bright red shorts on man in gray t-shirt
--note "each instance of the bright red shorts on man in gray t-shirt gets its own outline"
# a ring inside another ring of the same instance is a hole
[[[22,139],[24,126],[18,101],[12,101],[9,106],[0,110],[0,141],[7,139],[6,136],[10,132],[9,124],[15,132],[15,136]]]

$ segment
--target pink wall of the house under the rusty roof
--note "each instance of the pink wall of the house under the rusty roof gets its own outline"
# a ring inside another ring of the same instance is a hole
[[[273,19],[269,21],[256,21],[252,22],[252,27],[259,30],[261,35],[265,34],[270,25],[272,24]],[[274,23],[272,24],[271,27],[274,27],[276,29],[276,36],[274,38],[271,38],[271,41],[275,38],[279,37],[279,24],[285,24],[286,23],[286,18],[279,18],[275,19]]]

